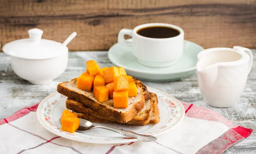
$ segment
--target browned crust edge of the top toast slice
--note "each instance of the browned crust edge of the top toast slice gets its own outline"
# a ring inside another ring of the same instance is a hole
[[[67,87],[65,84],[69,82],[76,82],[76,78],[72,79],[68,82],[63,82],[58,84],[57,91],[61,93],[62,95],[67,96],[68,98],[81,102],[85,106],[87,106],[90,109],[93,109],[97,112],[97,114],[102,115],[104,117],[112,117],[115,119],[115,121],[119,123],[126,123],[130,121],[132,118],[134,118],[135,115],[137,115],[138,112],[140,112],[141,109],[143,109],[145,105],[145,98],[149,99],[149,92],[145,85],[138,79],[133,79],[137,87],[140,88],[140,100],[136,103],[132,104],[130,106],[130,109],[126,112],[121,112],[118,110],[114,110],[107,105],[103,103],[99,103],[95,100],[95,98],[92,98],[90,95],[86,95],[82,92],[79,92],[77,90],[73,90],[72,88]],[[76,83],[74,83],[76,84]],[[89,93],[89,92],[87,92]],[[90,92],[91,93],[91,92]],[[139,94],[138,94],[139,95]],[[92,100],[94,99],[94,100]]]

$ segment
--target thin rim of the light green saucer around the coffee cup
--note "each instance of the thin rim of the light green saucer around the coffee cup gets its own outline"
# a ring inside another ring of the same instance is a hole
[[[127,39],[128,41],[132,40],[132,39]],[[195,42],[191,42],[191,41],[188,41],[186,39],[184,39],[184,43],[185,42],[189,42],[195,46],[197,46],[198,48],[201,48],[202,50],[205,50],[201,45],[198,45],[196,44]],[[115,61],[113,61],[113,59],[111,59],[111,56],[110,56],[110,52],[111,50],[113,50],[113,48],[115,48],[116,45],[118,45],[119,43],[117,42],[116,44],[112,45],[111,48],[108,50],[108,59],[115,65],[117,65],[118,67],[124,67],[125,70],[128,70],[128,71],[132,71],[132,72],[135,72],[135,73],[143,73],[143,74],[154,74],[154,75],[169,75],[169,74],[179,74],[179,73],[185,73],[185,72],[189,72],[189,71],[192,71],[192,70],[195,70],[196,69],[196,66],[194,67],[191,67],[189,69],[186,69],[186,70],[181,70],[181,71],[176,71],[176,72],[172,72],[172,73],[168,73],[168,72],[163,72],[163,73],[155,73],[155,72],[151,72],[151,73],[148,73],[146,71],[143,71],[143,70],[134,70],[134,69],[131,69],[129,67],[125,67],[124,65],[122,64],[118,64],[116,63]],[[131,48],[131,47],[130,47]],[[201,52],[201,51],[200,51]]]

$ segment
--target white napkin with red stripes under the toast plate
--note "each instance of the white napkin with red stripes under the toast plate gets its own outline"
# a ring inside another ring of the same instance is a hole
[[[35,104],[0,120],[0,154],[220,154],[253,132],[209,109],[182,104],[184,120],[155,142],[116,145],[80,143],[48,132],[37,120]]]

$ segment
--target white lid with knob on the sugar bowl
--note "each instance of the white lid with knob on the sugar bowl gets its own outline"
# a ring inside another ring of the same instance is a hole
[[[3,52],[20,59],[51,59],[68,51],[66,45],[49,39],[41,39],[43,31],[34,28],[28,31],[29,39],[18,39],[3,46]]]

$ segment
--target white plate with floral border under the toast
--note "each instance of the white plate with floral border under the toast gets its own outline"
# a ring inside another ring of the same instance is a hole
[[[148,124],[145,126],[133,126],[120,123],[93,123],[94,125],[105,125],[117,129],[130,130],[139,134],[150,134],[158,136],[167,132],[173,126],[177,125],[185,115],[184,107],[176,98],[159,90],[148,88],[150,92],[154,92],[158,97],[158,107],[160,112],[160,122],[157,124]],[[69,133],[61,130],[59,118],[63,110],[66,108],[65,101],[67,97],[55,92],[45,98],[38,106],[37,117],[39,122],[49,132],[70,140],[84,143],[114,144],[114,143],[130,143],[138,141],[111,132],[105,129],[93,129],[89,132]]]

